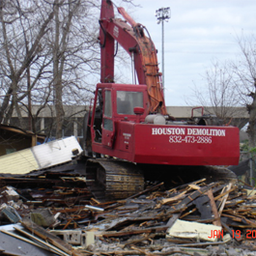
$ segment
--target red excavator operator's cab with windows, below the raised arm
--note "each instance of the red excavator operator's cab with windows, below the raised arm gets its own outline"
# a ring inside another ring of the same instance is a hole
[[[115,139],[119,136],[117,122],[142,122],[147,108],[149,100],[146,85],[98,84],[91,120],[93,146],[100,153],[105,148],[113,149]],[[139,109],[139,113],[134,112],[134,109]]]

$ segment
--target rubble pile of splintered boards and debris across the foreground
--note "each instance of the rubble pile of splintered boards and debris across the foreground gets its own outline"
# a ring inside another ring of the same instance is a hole
[[[68,173],[0,183],[3,255],[256,255],[256,194],[246,185],[158,184],[102,203]]]

